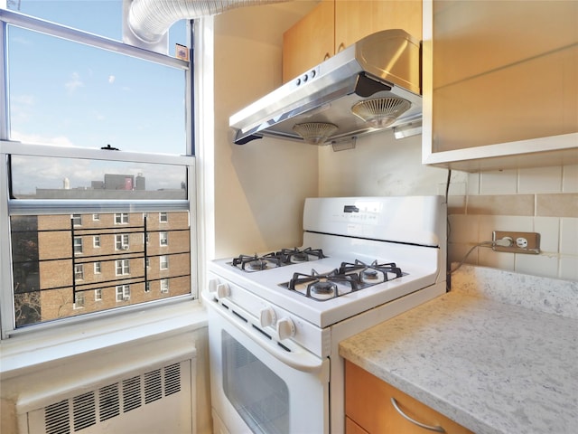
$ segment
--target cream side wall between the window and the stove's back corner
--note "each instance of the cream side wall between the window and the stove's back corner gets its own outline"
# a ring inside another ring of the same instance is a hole
[[[303,200],[317,195],[315,146],[264,138],[232,144],[228,118],[282,83],[284,29],[315,2],[215,17],[216,258],[301,245]]]

